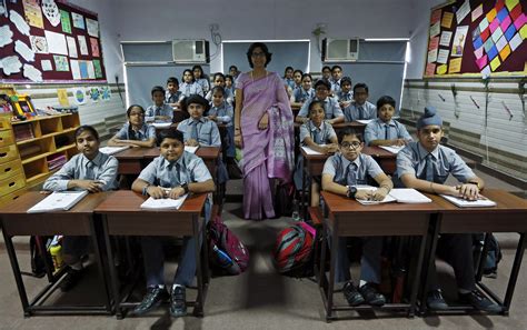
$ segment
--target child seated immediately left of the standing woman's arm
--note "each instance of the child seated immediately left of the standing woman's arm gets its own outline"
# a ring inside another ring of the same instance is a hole
[[[207,112],[207,118],[216,123],[225,123],[227,128],[227,137],[223,140],[223,150],[228,158],[235,157],[235,130],[232,118],[235,110],[232,106],[225,101],[225,89],[221,86],[215,86],[211,90],[212,102]]]

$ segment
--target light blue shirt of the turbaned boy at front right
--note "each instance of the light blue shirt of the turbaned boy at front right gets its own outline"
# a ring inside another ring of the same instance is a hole
[[[445,183],[449,174],[460,182],[467,182],[476,174],[463,161],[463,159],[450,148],[438,146],[431,153],[434,161],[434,182]],[[426,157],[428,151],[419,142],[410,142],[397,153],[396,177],[412,174],[418,179],[426,180]]]

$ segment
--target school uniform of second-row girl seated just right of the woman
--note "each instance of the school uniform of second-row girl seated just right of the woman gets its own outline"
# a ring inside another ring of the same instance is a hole
[[[300,146],[307,146],[304,140],[306,140],[306,138],[308,137],[311,138],[311,140],[317,144],[326,144],[330,143],[332,138],[337,138],[337,134],[335,133],[332,126],[330,126],[329,123],[322,121],[322,123],[318,128],[312,123],[311,120],[309,120],[300,127]],[[299,153],[294,176],[295,186],[297,187],[297,190],[302,189],[302,169],[304,157],[301,153]]]

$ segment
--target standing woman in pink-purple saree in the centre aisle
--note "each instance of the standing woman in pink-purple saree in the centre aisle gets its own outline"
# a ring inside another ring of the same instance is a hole
[[[275,218],[274,179],[290,182],[294,117],[284,81],[266,70],[271,53],[255,42],[247,51],[250,72],[236,81],[235,143],[242,148],[243,218]]]

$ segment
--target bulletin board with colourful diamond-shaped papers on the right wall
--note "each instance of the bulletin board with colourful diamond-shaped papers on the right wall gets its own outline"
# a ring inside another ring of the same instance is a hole
[[[425,78],[525,76],[527,0],[455,0],[431,10]]]

